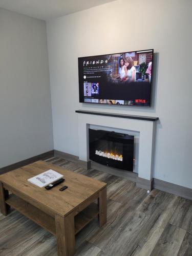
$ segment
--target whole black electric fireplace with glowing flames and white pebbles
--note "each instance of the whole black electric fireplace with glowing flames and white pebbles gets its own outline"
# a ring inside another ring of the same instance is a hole
[[[89,158],[133,172],[134,136],[89,129]]]

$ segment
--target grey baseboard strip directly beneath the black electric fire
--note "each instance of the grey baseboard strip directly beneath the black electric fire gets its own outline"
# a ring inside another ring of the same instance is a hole
[[[136,178],[138,176],[137,173],[128,172],[127,170],[119,170],[116,168],[108,167],[108,166],[96,163],[94,161],[91,161],[91,168],[100,170],[101,172],[104,172],[104,173],[115,175],[120,178],[131,180],[134,182],[136,182]]]

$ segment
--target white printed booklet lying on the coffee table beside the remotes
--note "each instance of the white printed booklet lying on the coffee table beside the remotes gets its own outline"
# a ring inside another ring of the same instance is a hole
[[[50,170],[46,170],[46,172],[44,172],[44,173],[41,173],[39,175],[36,175],[36,176],[28,179],[28,181],[38,187],[45,187],[45,186],[51,184],[52,182],[59,180],[62,177],[63,177],[63,175],[55,172],[55,170],[50,169]]]

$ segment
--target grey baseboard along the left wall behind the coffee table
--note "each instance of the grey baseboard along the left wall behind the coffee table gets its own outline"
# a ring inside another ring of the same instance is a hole
[[[53,156],[54,156],[54,151],[51,150],[51,151],[48,151],[46,153],[42,153],[42,154],[34,156],[34,157],[30,157],[30,158],[25,159],[23,161],[13,163],[13,164],[10,164],[10,165],[5,166],[3,168],[0,168],[0,174],[8,173],[11,170],[14,170],[14,169],[23,167],[27,164],[34,163],[38,160],[44,160],[45,158],[49,158],[49,157],[53,157]]]

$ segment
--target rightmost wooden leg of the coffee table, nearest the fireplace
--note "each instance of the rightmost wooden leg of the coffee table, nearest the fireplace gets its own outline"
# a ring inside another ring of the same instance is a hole
[[[99,225],[106,223],[106,187],[99,192]]]

